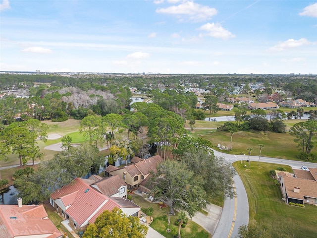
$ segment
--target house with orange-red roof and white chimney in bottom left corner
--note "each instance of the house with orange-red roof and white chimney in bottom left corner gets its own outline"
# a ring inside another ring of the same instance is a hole
[[[62,238],[43,205],[0,205],[0,238]]]

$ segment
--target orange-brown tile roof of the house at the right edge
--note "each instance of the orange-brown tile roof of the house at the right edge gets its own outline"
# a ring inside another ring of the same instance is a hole
[[[283,176],[284,173],[279,173]],[[317,198],[317,181],[309,179],[299,179],[288,176],[283,176],[284,185],[288,197],[305,200],[305,197]],[[300,192],[294,192],[294,187],[299,187]]]

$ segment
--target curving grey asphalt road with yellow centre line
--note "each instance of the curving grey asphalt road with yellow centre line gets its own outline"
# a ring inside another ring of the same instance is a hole
[[[221,153],[218,151],[213,151],[214,155],[223,156],[230,164],[235,161],[243,161],[243,155],[230,155],[226,153]],[[249,157],[246,155],[245,160]],[[250,161],[258,161],[259,156],[250,156]],[[283,160],[270,157],[261,157],[260,163],[273,163],[289,165],[294,169],[301,169],[302,165],[306,165],[309,168],[316,168],[316,163],[304,162],[304,161],[293,161],[293,160]],[[246,163],[247,164],[247,163]],[[238,236],[238,228],[249,223],[249,202],[246,190],[242,183],[242,180],[238,175],[234,176],[234,185],[236,189],[236,197],[233,199],[227,198],[224,201],[224,206],[222,208],[222,214],[218,222],[217,228],[212,235],[212,238],[234,238]]]

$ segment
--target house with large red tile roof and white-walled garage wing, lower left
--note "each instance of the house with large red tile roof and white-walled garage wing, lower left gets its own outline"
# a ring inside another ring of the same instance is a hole
[[[54,191],[50,203],[74,231],[84,231],[105,210],[117,207],[128,216],[140,216],[140,207],[124,197],[109,197],[91,186],[94,179],[76,178]]]

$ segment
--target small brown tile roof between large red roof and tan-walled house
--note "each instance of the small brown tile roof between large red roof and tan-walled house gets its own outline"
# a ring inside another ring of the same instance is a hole
[[[124,180],[121,179],[118,175],[104,178],[91,185],[96,185],[98,187],[98,190],[107,196],[112,196],[118,193],[121,186],[126,186]]]

